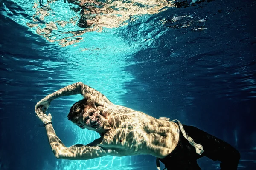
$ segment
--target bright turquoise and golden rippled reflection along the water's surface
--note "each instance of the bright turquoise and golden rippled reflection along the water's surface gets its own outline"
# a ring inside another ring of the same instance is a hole
[[[6,10],[5,15],[17,23],[29,26],[31,31],[47,41],[62,46],[79,42],[82,40],[80,36],[86,32],[118,28],[134,22],[140,16],[157,14],[175,7],[174,1],[164,0],[35,0],[34,2],[13,0],[13,2],[22,7],[22,13],[14,18],[12,11]]]

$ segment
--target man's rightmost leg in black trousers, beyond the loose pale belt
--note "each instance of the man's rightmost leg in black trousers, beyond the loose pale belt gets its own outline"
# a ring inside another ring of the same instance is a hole
[[[214,161],[221,161],[221,170],[236,170],[240,153],[227,142],[212,136],[203,130],[193,126],[183,125],[186,133],[195,141],[204,147],[204,153],[201,155],[206,156]]]

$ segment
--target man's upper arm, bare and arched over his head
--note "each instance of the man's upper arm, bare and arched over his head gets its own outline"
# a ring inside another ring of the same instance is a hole
[[[81,94],[88,99],[91,99],[95,104],[105,106],[108,104],[112,104],[107,97],[105,97],[102,93],[99,91],[96,91],[95,89],[91,88],[88,85],[85,85],[82,82],[77,82],[72,85],[68,85],[64,88],[61,88],[58,91],[55,91],[52,94],[49,94],[48,96],[44,97],[44,99],[41,99],[36,105],[35,105],[35,111],[37,111],[38,108],[44,108],[44,112],[49,108],[50,102],[53,99],[56,99],[61,96],[70,96],[70,95],[76,95]]]

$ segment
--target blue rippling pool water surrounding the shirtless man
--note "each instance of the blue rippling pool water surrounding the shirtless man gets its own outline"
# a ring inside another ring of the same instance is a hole
[[[103,12],[83,28],[72,0],[0,1],[0,170],[156,170],[147,155],[55,158],[34,107],[79,81],[117,105],[229,142],[241,153],[238,169],[255,170],[256,2],[101,2],[112,4],[110,19]],[[81,98],[56,99],[48,110],[66,146],[98,137],[66,118]],[[219,162],[198,164],[214,170]]]

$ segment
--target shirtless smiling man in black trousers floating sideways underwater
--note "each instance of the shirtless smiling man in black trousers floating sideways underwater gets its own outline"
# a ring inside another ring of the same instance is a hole
[[[52,127],[51,114],[45,112],[53,99],[75,94],[81,94],[84,99],[70,108],[68,119],[82,129],[96,131],[100,138],[87,145],[66,147]],[[49,94],[36,104],[35,112],[46,127],[53,153],[60,159],[150,154],[157,157],[158,168],[160,160],[173,170],[200,170],[197,159],[203,156],[221,161],[221,170],[235,170],[240,159],[239,152],[221,139],[193,126],[167,118],[155,119],[114,105],[99,91],[81,82]]]

